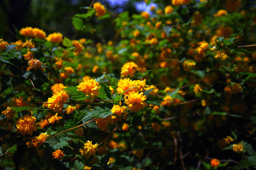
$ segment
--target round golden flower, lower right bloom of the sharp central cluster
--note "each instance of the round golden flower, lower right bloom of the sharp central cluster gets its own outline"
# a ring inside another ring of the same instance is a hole
[[[129,92],[126,96],[124,102],[132,112],[140,111],[147,106],[146,102],[147,96],[143,95],[143,92]]]

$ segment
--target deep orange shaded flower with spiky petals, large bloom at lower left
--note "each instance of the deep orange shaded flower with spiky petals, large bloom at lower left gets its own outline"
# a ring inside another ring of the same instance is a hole
[[[16,120],[17,131],[23,136],[32,135],[33,131],[37,131],[38,127],[35,126],[37,119],[33,116],[26,114],[23,118]]]

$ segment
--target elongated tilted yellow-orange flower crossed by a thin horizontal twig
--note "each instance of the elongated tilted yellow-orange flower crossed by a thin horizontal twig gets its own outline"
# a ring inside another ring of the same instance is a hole
[[[61,113],[63,108],[63,103],[67,101],[68,94],[66,91],[60,90],[53,94],[51,98],[48,98],[47,107],[52,109],[56,113]]]

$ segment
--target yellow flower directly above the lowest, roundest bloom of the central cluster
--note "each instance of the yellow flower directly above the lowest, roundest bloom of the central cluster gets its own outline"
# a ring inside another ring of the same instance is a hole
[[[120,79],[118,81],[117,86],[118,88],[116,90],[117,90],[117,93],[119,94],[127,90],[126,92],[123,93],[123,95],[128,95],[129,92],[137,92],[140,90],[138,87],[138,82],[130,80],[130,78]],[[132,88],[132,89],[128,90],[129,88]]]

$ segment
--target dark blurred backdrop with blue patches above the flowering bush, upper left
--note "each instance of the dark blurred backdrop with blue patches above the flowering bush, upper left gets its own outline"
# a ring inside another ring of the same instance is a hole
[[[15,28],[17,32],[26,26],[38,27],[47,34],[60,32],[72,39],[77,31],[72,25],[71,17],[86,13],[83,7],[90,6],[91,2],[92,0],[0,0],[0,39],[15,42],[17,41],[14,36]],[[112,15],[110,18],[97,21],[92,19],[90,24],[97,30],[97,34],[82,33],[76,39],[90,38],[98,41],[100,35],[108,41],[114,36],[111,17],[126,10],[130,15],[139,14],[143,10],[150,11],[151,7],[151,5],[147,6],[144,0],[100,0],[100,2]]]

